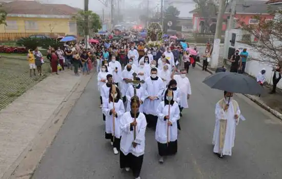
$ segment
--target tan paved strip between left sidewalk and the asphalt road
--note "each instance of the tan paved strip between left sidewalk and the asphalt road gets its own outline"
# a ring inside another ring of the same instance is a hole
[[[58,105],[52,116],[38,131],[37,136],[30,142],[17,160],[4,173],[1,179],[30,179],[41,162],[47,148],[52,145],[57,132],[64,124],[69,112],[83,94],[85,87],[95,73],[82,76],[71,89],[69,95]]]

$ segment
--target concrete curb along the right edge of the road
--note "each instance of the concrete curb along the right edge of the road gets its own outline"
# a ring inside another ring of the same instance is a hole
[[[200,66],[201,68],[203,68],[203,65],[200,64],[200,62],[196,62],[196,64],[198,66]],[[207,68],[207,72],[209,72],[210,74],[214,74],[215,72],[212,71],[211,69]],[[271,113],[272,115],[274,115],[276,118],[279,118],[280,120],[282,120],[282,114],[280,114],[277,110],[272,109],[271,107],[269,107],[268,105],[266,105],[263,101],[257,100],[254,97],[252,97],[251,95],[245,95],[245,94],[241,94],[246,96],[247,98],[249,98],[251,101],[253,101],[254,103],[256,103],[257,105],[259,105],[261,108],[269,111],[269,113]]]

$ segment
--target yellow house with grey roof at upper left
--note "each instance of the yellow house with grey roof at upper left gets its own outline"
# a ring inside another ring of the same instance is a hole
[[[68,5],[42,4],[35,1],[4,3],[7,26],[0,25],[0,41],[14,41],[30,35],[77,35],[72,17],[79,9]]]

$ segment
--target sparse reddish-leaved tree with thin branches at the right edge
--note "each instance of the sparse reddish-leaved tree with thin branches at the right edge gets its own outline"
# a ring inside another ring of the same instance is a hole
[[[275,18],[272,20],[255,17],[257,24],[247,25],[244,21],[239,23],[249,35],[249,38],[245,37],[243,41],[259,54],[259,57],[251,60],[274,66],[282,65],[282,10],[276,10],[273,14]]]

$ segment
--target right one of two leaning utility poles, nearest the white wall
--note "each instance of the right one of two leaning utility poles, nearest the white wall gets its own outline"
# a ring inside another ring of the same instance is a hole
[[[233,28],[233,24],[234,24],[234,15],[236,12],[236,2],[237,0],[232,0],[231,2],[231,6],[230,7],[230,15],[229,15],[229,20],[228,20],[228,25],[227,25],[227,29],[225,31],[225,39],[224,39],[224,58],[228,58],[228,47],[230,44],[230,30]]]

